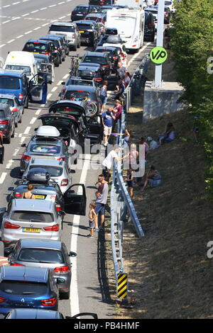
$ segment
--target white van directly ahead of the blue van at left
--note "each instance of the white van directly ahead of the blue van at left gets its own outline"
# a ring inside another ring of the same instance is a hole
[[[28,79],[38,74],[36,60],[33,53],[25,51],[11,51],[6,57],[4,69],[11,71],[23,71]]]

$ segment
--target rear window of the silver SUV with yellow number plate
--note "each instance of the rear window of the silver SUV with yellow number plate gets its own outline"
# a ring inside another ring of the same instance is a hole
[[[24,199],[23,199],[24,200]],[[54,221],[53,214],[46,212],[35,212],[33,210],[14,210],[11,213],[11,220],[23,222],[47,222]]]

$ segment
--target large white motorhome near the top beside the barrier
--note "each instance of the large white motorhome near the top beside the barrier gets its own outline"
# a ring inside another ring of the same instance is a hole
[[[145,13],[143,9],[111,9],[107,11],[107,28],[116,27],[126,50],[143,46]]]

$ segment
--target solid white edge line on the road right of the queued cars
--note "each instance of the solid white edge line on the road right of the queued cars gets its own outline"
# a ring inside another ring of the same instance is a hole
[[[87,171],[90,165],[91,155],[86,154],[84,156],[84,165],[82,167],[82,174],[80,177],[80,184],[85,184],[87,179]],[[80,194],[77,192],[77,194]],[[70,251],[77,252],[77,234],[79,230],[80,215],[74,215],[72,223],[72,234],[70,239]],[[72,296],[70,298],[70,310],[71,316],[80,312],[78,289],[77,289],[77,257],[72,258],[72,279],[70,283],[70,290],[72,290]]]

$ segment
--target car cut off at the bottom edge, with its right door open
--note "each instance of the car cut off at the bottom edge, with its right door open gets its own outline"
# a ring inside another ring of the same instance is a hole
[[[98,319],[96,313],[82,312],[70,316],[63,316],[62,313],[53,310],[43,309],[13,309],[6,313],[2,319]]]

